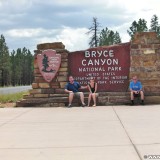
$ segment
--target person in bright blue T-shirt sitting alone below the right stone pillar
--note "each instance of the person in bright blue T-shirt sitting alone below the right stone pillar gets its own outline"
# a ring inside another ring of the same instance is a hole
[[[141,96],[141,104],[144,105],[144,92],[141,82],[137,79],[137,76],[133,76],[129,85],[131,92],[131,105],[134,105],[134,98]]]

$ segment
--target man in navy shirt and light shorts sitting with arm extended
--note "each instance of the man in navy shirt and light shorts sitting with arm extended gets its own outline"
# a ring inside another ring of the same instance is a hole
[[[74,80],[73,76],[69,76],[69,82],[65,85],[65,92],[69,93],[69,104],[68,107],[72,106],[72,100],[74,95],[80,97],[82,107],[86,106],[84,103],[84,94],[79,92],[79,89],[86,89],[87,86],[81,86],[77,81]]]

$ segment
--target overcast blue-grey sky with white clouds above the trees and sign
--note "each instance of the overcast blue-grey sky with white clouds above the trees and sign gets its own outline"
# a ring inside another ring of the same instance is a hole
[[[128,42],[127,30],[143,18],[150,27],[152,16],[160,22],[160,0],[0,0],[0,34],[9,50],[62,42],[69,51],[87,49],[85,33],[96,17],[101,29],[118,31]]]

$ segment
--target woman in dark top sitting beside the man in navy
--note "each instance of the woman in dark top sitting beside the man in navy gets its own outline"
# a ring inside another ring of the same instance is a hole
[[[88,84],[89,96],[88,96],[88,106],[90,106],[91,98],[93,98],[93,107],[96,106],[96,92],[97,92],[97,83],[94,82],[94,79],[90,79],[90,83]]]

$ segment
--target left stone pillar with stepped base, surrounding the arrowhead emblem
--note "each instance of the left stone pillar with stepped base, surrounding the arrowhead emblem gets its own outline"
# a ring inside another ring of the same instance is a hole
[[[37,63],[37,54],[47,49],[56,50],[57,54],[61,54],[59,71],[51,82],[45,81],[39,71]],[[35,50],[34,55],[33,89],[29,91],[29,95],[24,95],[24,100],[17,102],[17,106],[65,106],[64,102],[66,102],[67,95],[64,93],[64,86],[68,79],[68,53],[61,42],[37,45],[37,50]]]

